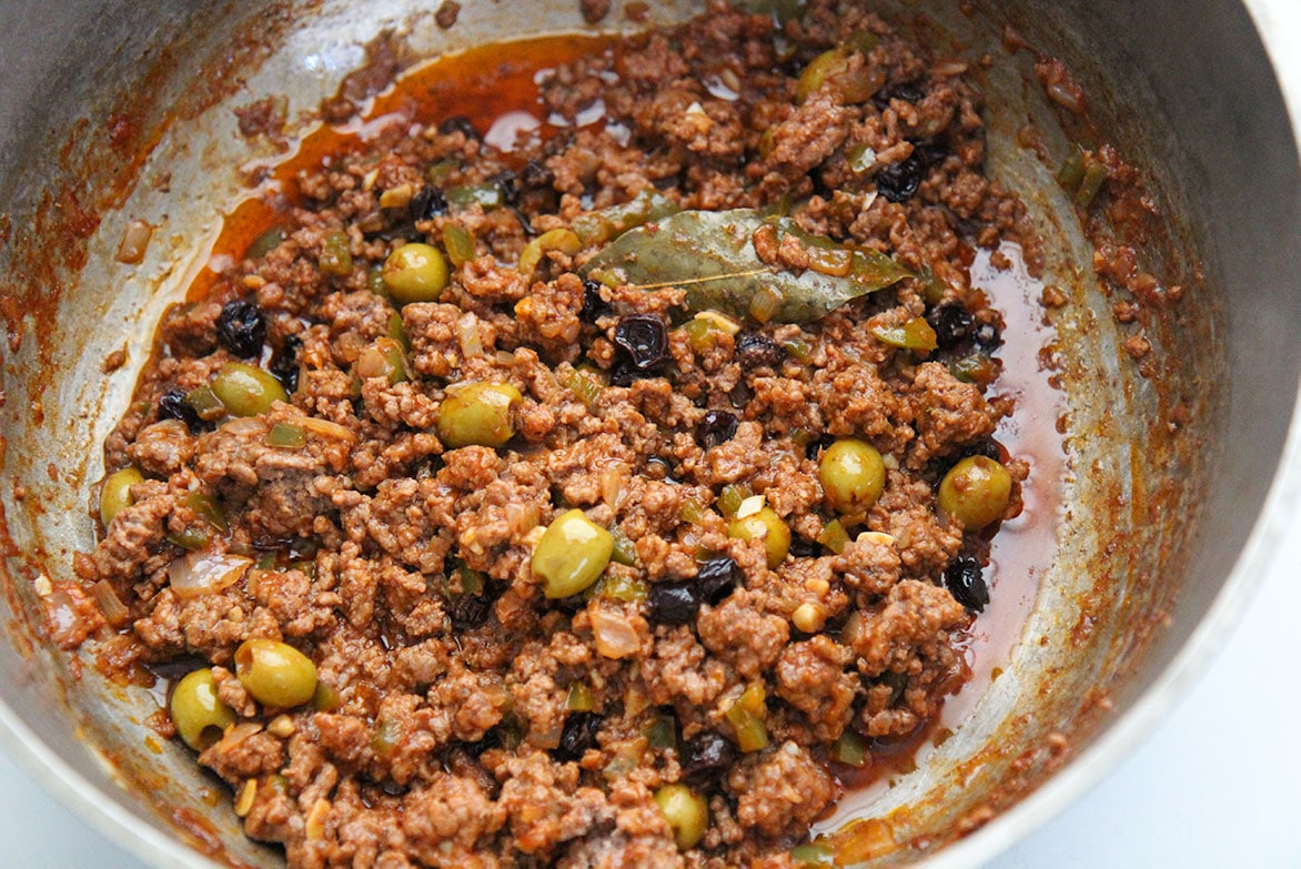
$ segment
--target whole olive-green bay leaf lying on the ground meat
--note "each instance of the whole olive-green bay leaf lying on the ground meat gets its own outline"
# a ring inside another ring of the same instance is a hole
[[[755,230],[794,235],[814,265],[795,273],[769,265],[755,251]],[[751,208],[683,211],[631,229],[588,260],[584,277],[644,290],[677,286],[692,312],[812,323],[846,302],[883,290],[911,272],[878,251],[860,250],[800,229],[790,217]]]

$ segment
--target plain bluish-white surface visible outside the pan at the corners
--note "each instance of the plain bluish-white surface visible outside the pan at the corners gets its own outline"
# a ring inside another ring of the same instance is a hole
[[[1301,92],[1301,0],[1249,5]],[[1301,515],[1228,645],[1174,714],[1093,792],[989,869],[1301,869],[1298,615]],[[144,869],[3,755],[0,844],[4,865]]]

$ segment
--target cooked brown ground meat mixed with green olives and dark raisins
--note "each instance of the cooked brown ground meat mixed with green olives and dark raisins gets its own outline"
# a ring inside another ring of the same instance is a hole
[[[105,442],[139,476],[77,571],[135,661],[206,662],[176,730],[291,866],[790,865],[967,674],[945,571],[1025,476],[967,264],[1030,241],[978,90],[829,0],[604,44],[513,147],[418,118],[299,173]],[[892,277],[786,316],[593,268],[722,209],[792,293]],[[304,656],[272,688],[267,641]]]

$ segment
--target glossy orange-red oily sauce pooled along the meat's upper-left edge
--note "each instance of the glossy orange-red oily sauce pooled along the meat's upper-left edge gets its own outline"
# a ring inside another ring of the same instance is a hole
[[[545,139],[557,127],[541,112],[539,82],[549,70],[610,44],[609,36],[543,36],[470,48],[406,70],[358,117],[342,125],[319,125],[291,143],[285,156],[256,168],[258,186],[226,216],[186,298],[206,298],[250,245],[282,222],[288,208],[302,203],[302,173],[360,151],[382,130],[459,116],[493,143],[509,139],[511,129],[533,130]]]

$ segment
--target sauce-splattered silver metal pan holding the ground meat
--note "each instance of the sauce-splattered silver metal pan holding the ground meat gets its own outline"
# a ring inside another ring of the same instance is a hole
[[[1301,501],[1301,178],[1283,99],[1237,3],[1007,3],[974,17],[947,0],[924,5],[947,51],[997,59],[990,159],[1030,203],[1047,280],[1071,297],[1053,372],[1064,481],[1045,489],[1060,510],[1038,507],[1053,545],[1028,575],[1000,579],[1029,589],[1020,641],[1002,675],[964,699],[951,739],[851,808],[887,818],[899,847],[879,865],[969,866],[1080,794],[1170,708]],[[654,16],[692,8],[662,4]],[[890,8],[912,21],[919,5]],[[619,9],[611,26],[627,26]],[[1051,180],[1072,131],[1029,83],[1030,57],[1002,48],[1004,26],[1079,73],[1097,129],[1147,170],[1163,224],[1147,250],[1185,287],[1149,324],[1149,376],[1120,350],[1128,330]],[[232,105],[288,94],[291,117],[310,111],[385,27],[429,53],[584,25],[571,0],[470,0],[450,31],[402,0],[17,0],[0,10],[0,740],[88,823],[159,866],[278,857],[243,838],[191,756],[150,738],[142,722],[157,699],[52,648],[40,614],[57,604],[72,553],[92,545],[98,444],[254,156]],[[1017,144],[1028,121],[1046,160]],[[157,229],[144,261],[127,267],[113,252],[131,220]],[[118,350],[125,364],[103,373]],[[1051,463],[1039,470],[1053,476]]]

